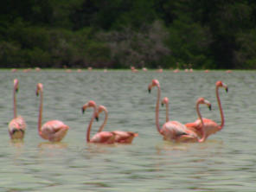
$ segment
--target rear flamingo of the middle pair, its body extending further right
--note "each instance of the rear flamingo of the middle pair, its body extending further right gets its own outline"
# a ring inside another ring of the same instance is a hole
[[[108,112],[106,110],[106,106],[99,106],[98,107],[98,114],[100,112],[105,112],[105,118],[103,124],[99,127],[99,131],[101,132],[106,125],[106,121],[108,118]],[[131,144],[133,138],[138,137],[138,133],[132,131],[112,131],[115,134],[115,142],[121,144]]]

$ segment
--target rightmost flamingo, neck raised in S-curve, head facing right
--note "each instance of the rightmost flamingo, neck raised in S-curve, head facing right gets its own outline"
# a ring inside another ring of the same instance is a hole
[[[221,129],[223,128],[224,123],[225,123],[224,113],[223,113],[222,106],[221,106],[221,99],[219,96],[219,87],[225,88],[226,92],[228,92],[228,87],[221,80],[217,81],[215,85],[216,85],[216,89],[215,89],[216,98],[217,98],[218,106],[219,106],[219,109],[221,112],[221,125],[218,125],[212,119],[203,118],[203,123],[204,123],[205,131],[206,131],[206,138],[208,138],[208,136],[210,136],[211,134],[214,134],[217,131],[221,131]],[[193,123],[186,124],[186,126],[190,130],[193,130],[198,135],[202,136],[202,123],[199,119],[195,120],[195,122],[193,122]]]

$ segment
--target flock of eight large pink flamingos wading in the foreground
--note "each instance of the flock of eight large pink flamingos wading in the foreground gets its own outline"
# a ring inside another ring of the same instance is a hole
[[[16,93],[18,92],[19,81],[14,80],[13,88],[13,111],[14,118],[9,123],[9,133],[11,139],[20,139],[22,140],[25,135],[26,123],[21,116],[16,114]],[[158,133],[163,137],[163,140],[176,142],[176,143],[202,143],[210,135],[214,134],[217,131],[221,131],[224,126],[224,113],[221,106],[221,99],[219,95],[219,88],[222,87],[228,91],[227,85],[222,81],[217,81],[215,84],[215,94],[218,102],[219,110],[221,113],[221,125],[218,125],[214,120],[209,118],[202,118],[200,112],[200,105],[208,106],[208,109],[211,110],[211,103],[202,97],[196,100],[195,109],[198,118],[195,122],[182,124],[179,121],[170,120],[169,117],[169,102],[170,100],[167,97],[164,97],[161,101],[162,106],[165,105],[165,114],[166,120],[163,123],[162,127],[159,123],[159,106],[161,99],[161,87],[158,80],[154,79],[150,82],[148,86],[149,93],[157,87],[157,102],[155,109],[155,121]],[[37,130],[41,138],[48,140],[50,142],[61,142],[63,138],[67,135],[69,126],[65,125],[60,120],[51,120],[42,125],[42,108],[43,108],[43,85],[38,83],[36,85],[36,96],[40,96],[40,105],[39,105],[39,115],[38,115],[38,124]],[[138,137],[138,133],[132,131],[103,131],[108,120],[108,111],[106,106],[99,105],[97,106],[96,102],[89,100],[84,106],[81,107],[82,113],[88,111],[88,108],[93,108],[93,115],[90,121],[88,122],[86,129],[86,142],[94,144],[131,144],[133,139]],[[99,126],[99,130],[91,138],[91,130],[93,127],[93,121],[96,119],[99,120],[99,115],[104,112],[104,120],[102,125]]]

